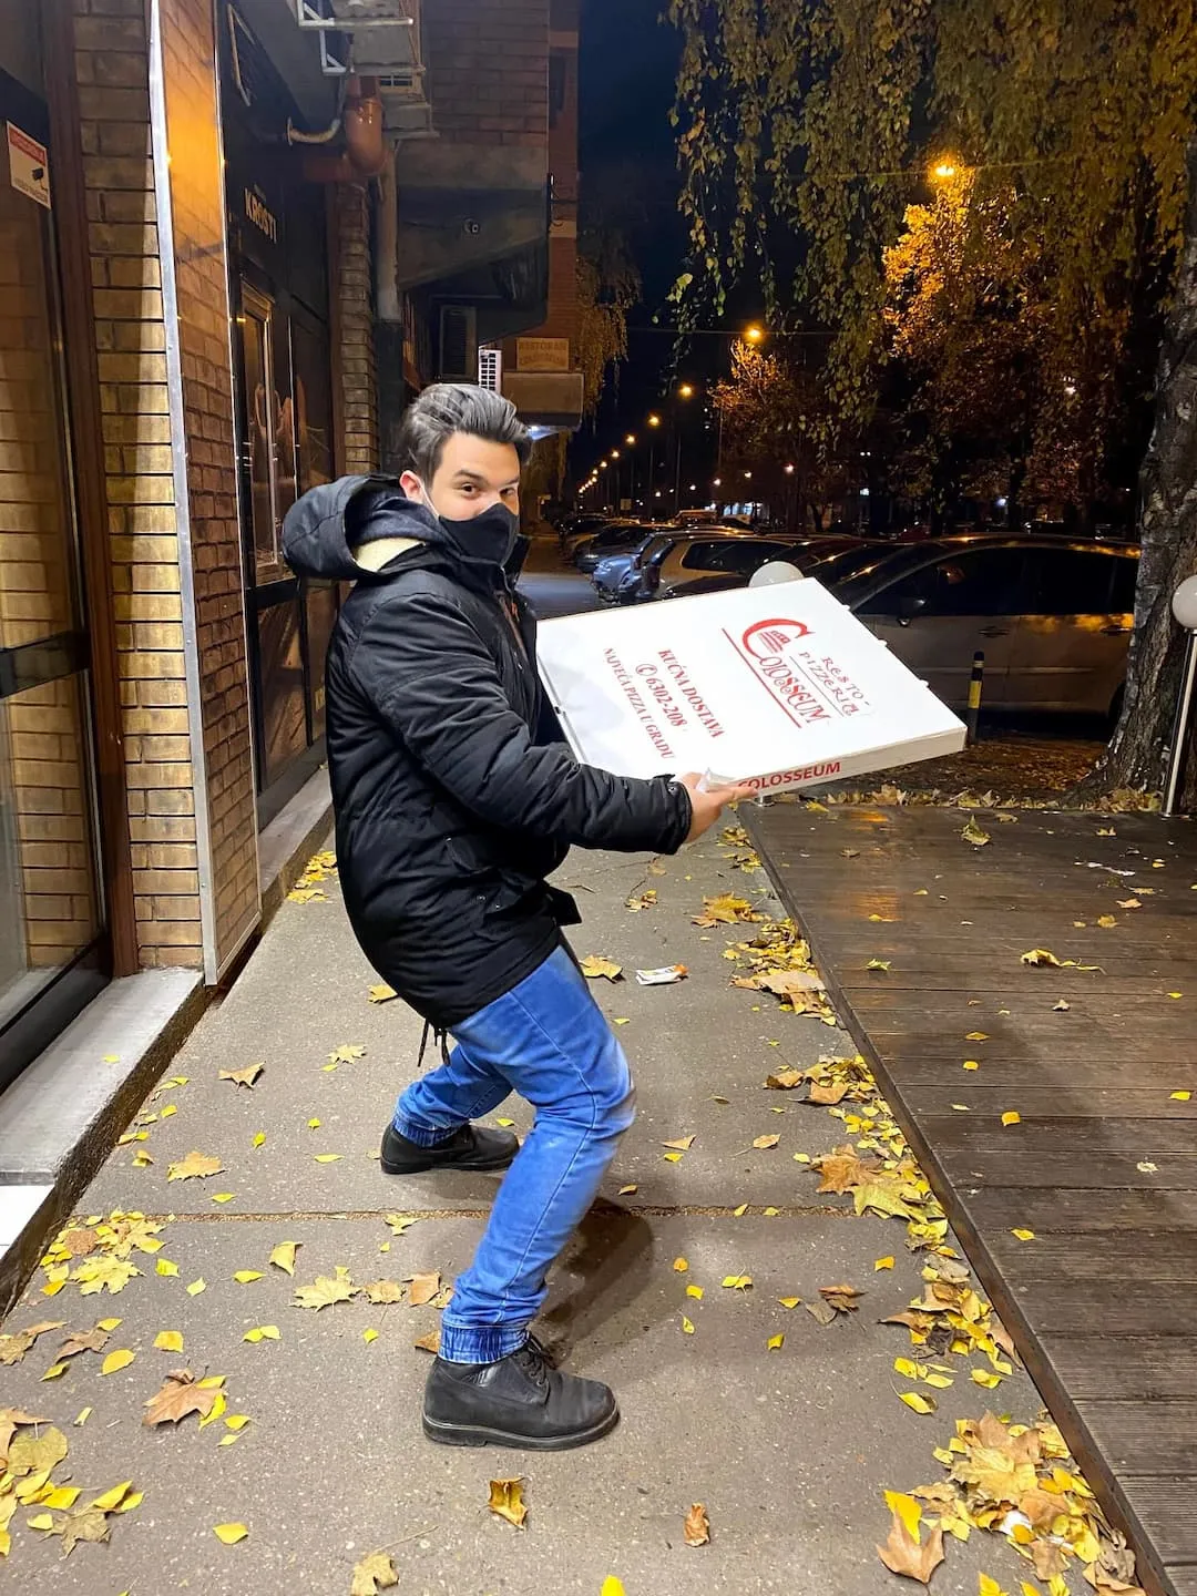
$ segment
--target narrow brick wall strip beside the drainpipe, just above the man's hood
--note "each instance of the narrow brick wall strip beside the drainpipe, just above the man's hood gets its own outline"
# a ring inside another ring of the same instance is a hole
[[[370,196],[356,184],[332,195],[332,369],[340,452],[346,474],[378,469],[378,373],[375,358]]]

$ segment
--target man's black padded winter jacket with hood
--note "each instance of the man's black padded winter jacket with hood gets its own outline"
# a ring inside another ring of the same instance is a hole
[[[351,549],[380,536],[420,544],[367,571]],[[570,844],[675,852],[689,795],[579,764],[560,741],[501,533],[440,522],[391,477],[343,477],[290,509],[284,551],[302,576],[356,583],[326,664],[350,921],[378,974],[452,1026],[578,919],[544,879]]]

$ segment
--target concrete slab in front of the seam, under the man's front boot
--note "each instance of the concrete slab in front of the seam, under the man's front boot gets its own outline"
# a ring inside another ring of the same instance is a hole
[[[892,1246],[883,1221],[827,1215],[803,1219],[653,1218],[595,1211],[557,1272],[546,1328],[568,1344],[570,1366],[610,1381],[622,1422],[586,1452],[533,1457],[506,1449],[429,1446],[418,1428],[428,1355],[412,1342],[436,1328],[431,1307],[337,1304],[295,1307],[294,1286],[335,1264],[354,1282],[418,1269],[452,1277],[469,1258],[480,1224],[428,1219],[391,1253],[380,1219],[179,1219],[158,1254],[177,1278],[150,1272],[115,1298],[78,1298],[69,1286],[49,1307],[70,1328],[123,1315],[109,1350],[136,1363],[101,1376],[81,1353],[59,1381],[41,1384],[57,1336],[46,1336],[6,1371],[6,1401],[56,1422],[70,1441],[56,1472],[105,1489],[131,1478],[145,1502],[117,1519],[109,1547],[80,1547],[64,1562],[57,1542],[14,1521],[14,1548],[0,1580],[53,1588],[56,1596],[132,1596],[203,1590],[348,1591],[353,1562],[377,1547],[396,1550],[404,1591],[587,1591],[606,1574],[629,1593],[686,1590],[820,1591],[875,1596],[902,1586],[876,1561],[883,1486],[934,1479],[929,1448],[956,1416],[977,1409],[975,1387],[958,1381],[940,1411],[919,1419],[895,1398],[892,1360],[905,1331],[878,1326],[913,1288],[913,1264],[873,1277],[875,1256]],[[295,1280],[270,1269],[270,1248],[300,1240]],[[685,1258],[686,1274],[674,1269]],[[238,1269],[263,1278],[236,1285]],[[723,1290],[729,1274],[752,1275],[747,1291]],[[200,1296],[184,1286],[207,1282]],[[865,1309],[827,1328],[779,1296],[811,1298],[847,1278],[868,1291]],[[697,1283],[702,1301],[685,1288]],[[37,1290],[13,1323],[45,1312]],[[688,1315],[694,1334],[685,1334]],[[281,1341],[246,1344],[246,1329],[279,1326]],[[378,1329],[373,1344],[365,1329]],[[160,1329],[184,1334],[184,1355],[158,1352]],[[784,1333],[780,1352],[769,1336]],[[147,1430],[142,1404],[168,1369],[223,1374],[228,1411],[251,1416],[231,1446],[222,1422]],[[1002,1401],[1033,1409],[1029,1382],[1007,1382]],[[83,1428],[72,1420],[94,1411]],[[492,1478],[523,1475],[525,1532],[487,1513]],[[712,1543],[681,1543],[691,1502],[704,1502]],[[222,1547],[220,1523],[244,1523],[249,1539]],[[407,1539],[413,1537],[413,1539]],[[998,1564],[993,1545],[953,1547],[935,1590],[975,1596],[977,1570]],[[1009,1553],[1007,1553],[1009,1561]]]

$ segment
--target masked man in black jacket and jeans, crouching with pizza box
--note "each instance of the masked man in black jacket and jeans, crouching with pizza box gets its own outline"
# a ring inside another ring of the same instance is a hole
[[[472,1266],[442,1317],[425,1432],[456,1446],[557,1449],[614,1427],[614,1395],[552,1368],[530,1334],[546,1270],[632,1124],[632,1079],[562,938],[546,878],[570,844],[675,852],[747,788],[630,780],[560,741],[512,584],[530,440],[514,405],[437,385],[409,409],[407,469],[313,488],[286,557],[351,579],[326,666],[337,860],[378,974],[456,1045],[410,1085],[383,1170],[504,1170]],[[471,1120],[519,1092],[516,1136]]]

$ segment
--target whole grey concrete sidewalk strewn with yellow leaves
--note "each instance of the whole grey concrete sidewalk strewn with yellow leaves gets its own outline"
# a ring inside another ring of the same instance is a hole
[[[579,954],[610,954],[629,972],[618,985],[600,980],[597,996],[627,1021],[619,1036],[640,1114],[606,1202],[555,1272],[544,1329],[570,1368],[618,1389],[624,1419],[614,1435],[557,1456],[434,1448],[418,1422],[428,1353],[413,1342],[436,1331],[437,1312],[410,1306],[425,1294],[420,1283],[404,1286],[402,1302],[359,1294],[321,1310],[297,1306],[297,1286],[335,1280],[337,1269],[354,1286],[428,1272],[452,1282],[495,1189],[482,1176],[388,1179],[378,1170],[396,1090],[415,1071],[420,1023],[399,1002],[369,1001],[377,977],[329,876],[316,883],[322,897],[282,907],[169,1066],[142,1116],[145,1140],[118,1148],[89,1187],[83,1216],[137,1210],[163,1226],[148,1237],[161,1250],[134,1246],[140,1272],[115,1294],[85,1296],[70,1280],[46,1296],[38,1270],[3,1326],[11,1336],[62,1321],[24,1355],[0,1344],[11,1363],[5,1404],[56,1425],[69,1444],[53,1478],[34,1473],[34,1484],[81,1487],[75,1511],[123,1481],[144,1500],[128,1513],[93,1513],[93,1532],[107,1529],[109,1543],[80,1545],[61,1561],[59,1539],[27,1523],[48,1515],[61,1526],[54,1508],[72,1507],[70,1491],[37,1500],[26,1470],[48,1459],[29,1454],[35,1432],[22,1425],[16,1484],[30,1502],[11,1516],[0,1590],[345,1596],[354,1564],[378,1548],[394,1559],[399,1591],[429,1596],[598,1596],[610,1575],[627,1596],[915,1588],[878,1561],[891,1527],[883,1491],[942,1481],[932,1449],[948,1443],[956,1419],[980,1419],[993,1404],[1033,1422],[1039,1401],[1026,1376],[1002,1379],[991,1395],[967,1373],[985,1373],[985,1358],[946,1353],[954,1384],[921,1387],[937,1412],[899,1400],[913,1387],[894,1360],[918,1353],[905,1328],[878,1321],[921,1296],[929,1254],[907,1250],[905,1221],[857,1218],[851,1195],[819,1195],[809,1167],[793,1159],[847,1140],[844,1124],[798,1092],[763,1090],[766,1076],[852,1049],[833,1026],[782,1012],[769,993],[729,985],[745,966],[725,959],[725,948],[755,927],[694,926],[702,899],[729,894],[780,913],[763,873],[733,868],[733,852],[704,844],[664,862],[661,875],[648,873],[648,860],[578,854],[562,876],[586,915]],[[629,911],[629,894],[645,891],[659,902]],[[642,988],[630,978],[672,962],[689,966],[686,982]],[[219,1079],[255,1063],[263,1068],[252,1088]],[[527,1130],[523,1104],[503,1112]],[[667,1159],[674,1149],[662,1143],[686,1136],[693,1146]],[[780,1143],[755,1149],[763,1136]],[[193,1151],[219,1159],[220,1171],[168,1181]],[[417,1223],[388,1226],[385,1215],[396,1213]],[[70,1245],[91,1242],[77,1235]],[[268,1262],[284,1242],[298,1243],[294,1278]],[[80,1253],[73,1272],[112,1272],[110,1253]],[[895,1267],[876,1270],[887,1256]],[[239,1283],[238,1272],[255,1278]],[[721,1285],[742,1275],[750,1286]],[[835,1283],[865,1293],[859,1312],[822,1325],[803,1306],[779,1302],[817,1304],[819,1288]],[[686,1296],[688,1285],[702,1298]],[[394,1294],[375,1286],[375,1296]],[[107,1344],[45,1379],[67,1333],[105,1318],[118,1320]],[[276,1326],[278,1339],[244,1339],[262,1326]],[[182,1352],[155,1349],[164,1331],[182,1336]],[[779,1334],[784,1345],[768,1350]],[[136,1358],[117,1358],[124,1366],[102,1374],[118,1350]],[[144,1404],[180,1368],[223,1377],[227,1412],[203,1428],[195,1414],[144,1427]],[[238,1414],[249,1424],[230,1428]],[[61,1451],[51,1443],[51,1454]],[[490,1479],[516,1475],[523,1531],[487,1510]],[[683,1519],[696,1502],[710,1516],[710,1543],[689,1548]],[[223,1545],[219,1524],[249,1532]],[[1071,1567],[1058,1590],[1079,1593],[1087,1586]],[[1033,1577],[999,1537],[974,1531],[967,1543],[950,1540],[934,1590],[977,1596],[980,1572],[1012,1596]]]

